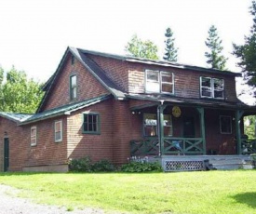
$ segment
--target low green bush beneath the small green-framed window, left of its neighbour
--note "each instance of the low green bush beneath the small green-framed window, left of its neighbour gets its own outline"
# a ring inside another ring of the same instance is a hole
[[[90,172],[92,169],[91,160],[88,156],[71,160],[69,163],[69,169],[71,171],[87,171]]]

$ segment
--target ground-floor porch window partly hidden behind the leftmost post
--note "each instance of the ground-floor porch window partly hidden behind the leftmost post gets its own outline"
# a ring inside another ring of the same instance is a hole
[[[144,114],[144,136],[157,136],[157,116],[156,114]],[[164,135],[172,136],[171,115],[164,114]]]

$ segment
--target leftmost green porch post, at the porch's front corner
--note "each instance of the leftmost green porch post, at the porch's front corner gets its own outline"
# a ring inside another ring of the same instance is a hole
[[[162,104],[157,107],[159,156],[164,154],[164,110],[166,107]]]

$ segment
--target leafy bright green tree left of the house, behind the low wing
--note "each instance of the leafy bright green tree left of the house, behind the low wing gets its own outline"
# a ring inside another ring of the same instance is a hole
[[[14,67],[4,76],[0,69],[0,111],[32,114],[36,111],[43,97],[42,85],[28,79],[24,72]]]

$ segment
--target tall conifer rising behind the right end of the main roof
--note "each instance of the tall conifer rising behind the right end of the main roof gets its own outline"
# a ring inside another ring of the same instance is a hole
[[[207,57],[207,63],[211,68],[225,70],[225,64],[227,58],[222,55],[222,40],[220,39],[217,28],[211,25],[209,28],[209,37],[207,38],[205,44],[209,47],[209,52],[205,52]]]

